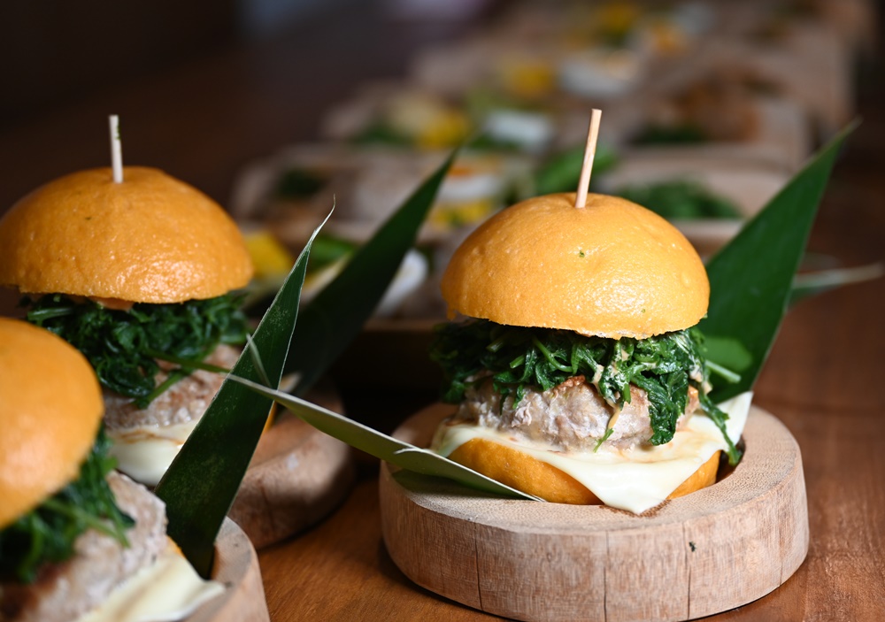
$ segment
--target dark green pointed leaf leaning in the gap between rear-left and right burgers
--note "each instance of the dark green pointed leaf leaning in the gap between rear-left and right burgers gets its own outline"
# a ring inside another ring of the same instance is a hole
[[[372,315],[405,253],[414,245],[457,153],[457,150],[452,152],[372,239],[356,251],[342,273],[301,311],[292,340],[296,345],[286,364],[287,374],[301,374],[293,393],[303,395]]]

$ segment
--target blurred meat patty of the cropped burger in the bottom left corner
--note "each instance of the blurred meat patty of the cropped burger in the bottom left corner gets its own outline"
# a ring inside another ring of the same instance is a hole
[[[42,568],[30,585],[0,585],[0,620],[67,622],[104,601],[114,587],[153,564],[165,549],[165,504],[118,472],[108,483],[122,511],[135,518],[124,548],[111,536],[88,531],[74,543],[76,555]]]

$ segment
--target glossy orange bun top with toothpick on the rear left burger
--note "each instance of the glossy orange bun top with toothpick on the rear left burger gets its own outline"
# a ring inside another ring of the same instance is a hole
[[[65,175],[0,219],[0,285],[180,303],[246,285],[249,253],[218,203],[153,168]]]

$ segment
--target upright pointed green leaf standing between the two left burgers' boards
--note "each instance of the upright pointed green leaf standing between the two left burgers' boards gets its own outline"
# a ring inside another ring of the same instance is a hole
[[[298,256],[232,374],[252,380],[264,377],[279,385],[295,330],[311,244],[318,233],[319,227]],[[257,365],[258,360],[261,365]],[[212,570],[215,537],[234,503],[272,404],[266,395],[228,377],[155,491],[166,504],[169,536],[204,577]]]

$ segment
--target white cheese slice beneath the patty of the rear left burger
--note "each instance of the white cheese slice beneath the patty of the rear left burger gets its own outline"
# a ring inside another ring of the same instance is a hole
[[[111,455],[117,458],[117,468],[145,486],[157,486],[198,420],[174,426],[141,426],[123,432],[109,430],[113,441]]]

